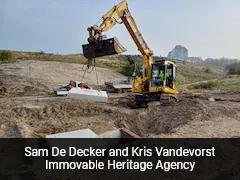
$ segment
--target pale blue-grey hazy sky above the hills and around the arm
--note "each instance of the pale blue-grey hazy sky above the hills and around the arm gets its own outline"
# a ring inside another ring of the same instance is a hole
[[[82,52],[87,27],[120,0],[0,0],[0,49]],[[183,45],[189,56],[240,59],[239,0],[128,0],[154,55]],[[139,54],[123,24],[107,32]]]

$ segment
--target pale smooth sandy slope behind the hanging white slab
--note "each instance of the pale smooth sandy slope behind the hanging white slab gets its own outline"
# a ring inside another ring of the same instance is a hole
[[[82,80],[86,66],[74,63],[59,63],[48,61],[19,61],[16,63],[1,64],[0,71],[7,75],[32,78],[34,81],[52,87],[65,85],[70,80]],[[97,67],[97,76],[100,84],[104,81],[120,81],[126,79],[120,73]],[[90,85],[97,85],[96,72],[85,74],[83,81]]]

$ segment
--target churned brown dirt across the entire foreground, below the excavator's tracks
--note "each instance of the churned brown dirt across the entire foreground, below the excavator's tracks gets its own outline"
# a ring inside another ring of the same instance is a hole
[[[85,128],[103,133],[114,127],[142,137],[239,136],[240,103],[232,101],[192,97],[145,109],[55,97],[0,98],[0,102],[1,137],[44,137]]]

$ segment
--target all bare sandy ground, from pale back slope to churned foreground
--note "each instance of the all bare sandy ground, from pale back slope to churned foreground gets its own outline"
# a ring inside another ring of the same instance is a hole
[[[240,94],[180,94],[171,106],[145,109],[129,108],[129,94],[109,94],[107,103],[55,97],[52,86],[77,79],[81,67],[40,61],[0,65],[0,137],[44,137],[83,128],[103,133],[119,127],[142,137],[240,137]],[[125,78],[98,69],[100,83]],[[85,81],[94,85],[96,74]]]

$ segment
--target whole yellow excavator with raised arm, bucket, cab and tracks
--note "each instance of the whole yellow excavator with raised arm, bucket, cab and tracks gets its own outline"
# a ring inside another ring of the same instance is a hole
[[[131,15],[126,0],[120,2],[102,16],[100,25],[93,25],[89,32],[88,44],[82,45],[83,54],[88,59],[88,67],[95,58],[119,54],[126,49],[116,37],[107,39],[106,33],[116,24],[124,24],[143,59],[143,67],[132,82],[132,92],[138,106],[147,106],[153,101],[166,105],[176,100],[176,64],[169,60],[153,59],[153,51],[149,48]]]

